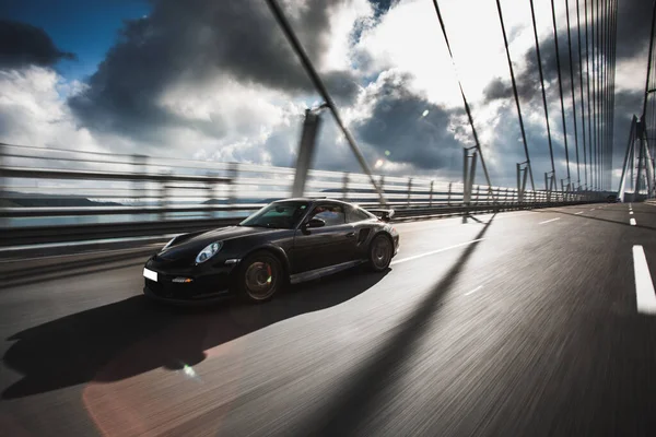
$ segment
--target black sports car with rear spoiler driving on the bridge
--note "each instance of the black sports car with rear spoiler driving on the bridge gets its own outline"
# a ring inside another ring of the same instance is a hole
[[[393,213],[329,199],[272,202],[236,226],[168,241],[145,263],[143,291],[174,302],[231,294],[265,302],[286,283],[360,263],[383,271],[399,248],[399,234],[387,223]]]

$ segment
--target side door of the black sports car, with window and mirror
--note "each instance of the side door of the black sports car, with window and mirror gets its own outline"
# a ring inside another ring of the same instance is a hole
[[[320,203],[309,212],[312,218],[326,222],[324,227],[301,226],[294,236],[293,273],[327,268],[355,259],[355,233],[347,223],[344,205]]]

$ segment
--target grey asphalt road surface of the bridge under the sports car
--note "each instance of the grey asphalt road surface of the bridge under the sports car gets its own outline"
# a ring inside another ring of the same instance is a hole
[[[154,305],[142,259],[35,272],[0,290],[0,435],[655,436],[656,206],[632,211],[398,224],[387,272],[261,306]]]

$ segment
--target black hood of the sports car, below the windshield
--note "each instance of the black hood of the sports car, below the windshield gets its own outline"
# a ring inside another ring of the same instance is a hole
[[[157,253],[159,258],[165,260],[179,260],[183,258],[195,258],[204,247],[215,241],[227,241],[233,238],[245,237],[256,234],[276,234],[288,229],[267,229],[263,227],[229,226],[219,229],[207,231],[199,234],[185,234],[177,237],[180,243],[174,241],[173,246]]]

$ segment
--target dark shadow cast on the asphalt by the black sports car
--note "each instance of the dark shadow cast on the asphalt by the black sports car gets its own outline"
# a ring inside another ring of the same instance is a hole
[[[353,270],[292,286],[262,305],[232,300],[177,308],[140,295],[24,330],[8,339],[15,343],[3,356],[4,366],[23,377],[2,392],[2,399],[195,365],[211,347],[342,304],[389,272],[372,273],[364,267]]]

